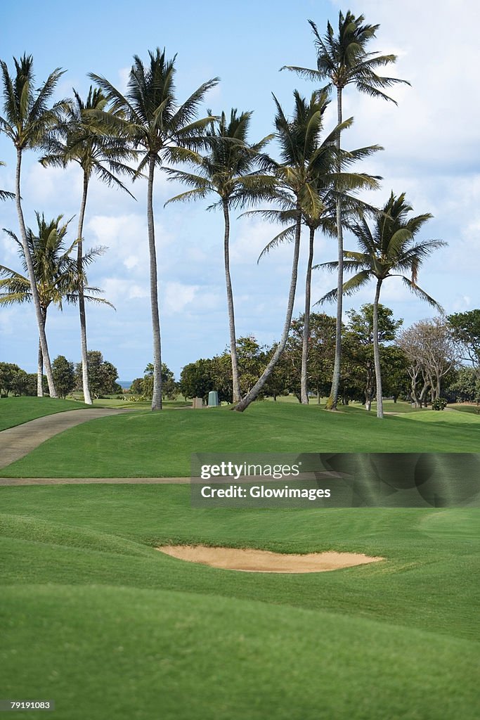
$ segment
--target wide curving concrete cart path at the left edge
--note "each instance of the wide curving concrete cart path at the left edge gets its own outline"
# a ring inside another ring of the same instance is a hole
[[[19,460],[35,450],[45,440],[73,428],[87,420],[119,415],[130,408],[86,408],[86,410],[65,410],[64,413],[45,415],[28,423],[7,428],[0,432],[0,468]]]

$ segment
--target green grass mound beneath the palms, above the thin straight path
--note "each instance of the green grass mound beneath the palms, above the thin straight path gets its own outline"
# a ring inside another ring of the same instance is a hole
[[[422,411],[387,415],[348,406],[257,402],[142,412],[84,423],[1,470],[4,477],[186,477],[193,452],[476,452],[480,418]]]

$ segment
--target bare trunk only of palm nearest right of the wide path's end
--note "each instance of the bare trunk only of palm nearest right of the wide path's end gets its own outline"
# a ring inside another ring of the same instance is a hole
[[[162,351],[160,344],[160,315],[158,312],[157,252],[155,249],[155,227],[153,225],[153,173],[155,157],[148,162],[147,222],[148,249],[150,251],[150,304],[152,306],[153,330],[153,396],[152,410],[162,409]]]

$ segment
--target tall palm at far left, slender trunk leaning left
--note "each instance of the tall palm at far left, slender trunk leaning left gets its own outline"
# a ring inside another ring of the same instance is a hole
[[[27,274],[32,288],[32,301],[37,318],[42,357],[45,361],[48,389],[50,397],[57,397],[50,356],[48,354],[47,336],[45,335],[45,327],[42,321],[42,308],[40,307],[37,285],[35,284],[34,266],[27,242],[27,229],[23,217],[22,195],[20,192],[20,175],[24,150],[42,147],[48,132],[58,125],[60,115],[66,108],[65,101],[50,105],[55,86],[60,76],[63,75],[63,71],[57,68],[53,73],[50,73],[45,83],[40,86],[40,89],[35,89],[32,55],[23,55],[20,60],[14,58],[14,65],[15,75],[10,76],[6,63],[4,63],[4,60],[0,60],[4,86],[4,115],[0,117],[0,130],[5,133],[7,138],[12,140],[17,150],[15,201],[17,204],[20,234],[22,236]]]

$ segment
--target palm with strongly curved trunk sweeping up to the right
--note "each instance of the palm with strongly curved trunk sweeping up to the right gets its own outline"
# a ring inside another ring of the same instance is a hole
[[[320,135],[323,129],[323,114],[328,101],[325,93],[314,92],[307,102],[298,91],[294,91],[294,114],[289,120],[284,114],[279,101],[273,96],[276,104],[276,140],[281,148],[281,163],[276,164],[276,188],[272,192],[272,199],[283,204],[284,210],[291,213],[294,219],[294,253],[291,268],[291,281],[289,300],[286,310],[284,330],[276,349],[271,356],[263,374],[253,388],[235,406],[235,410],[242,412],[253,402],[267,382],[273,368],[284,351],[289,337],[291,315],[294,310],[296,281],[298,276],[298,261],[300,237],[302,233],[302,217],[306,212],[317,220],[325,210],[325,205],[318,192],[316,177],[328,157],[335,157],[335,135],[338,127],[320,145]],[[350,121],[345,125],[350,124]],[[268,212],[268,211],[267,211]]]

